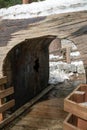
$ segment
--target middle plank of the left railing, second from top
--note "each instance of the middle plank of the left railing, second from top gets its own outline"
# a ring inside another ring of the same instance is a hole
[[[11,95],[13,93],[14,93],[14,88],[13,87],[2,90],[2,91],[0,91],[0,99],[4,98],[6,96],[9,96],[9,95]]]

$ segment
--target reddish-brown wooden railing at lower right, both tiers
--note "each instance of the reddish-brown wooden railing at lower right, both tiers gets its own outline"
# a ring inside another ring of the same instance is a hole
[[[87,84],[79,85],[65,98],[64,110],[71,113],[64,121],[64,130],[87,130]]]

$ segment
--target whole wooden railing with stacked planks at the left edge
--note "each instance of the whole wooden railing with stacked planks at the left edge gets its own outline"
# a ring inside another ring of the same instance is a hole
[[[7,77],[0,78],[0,122],[5,119],[5,112],[15,105],[15,100],[7,100],[14,93],[13,87],[6,87]]]

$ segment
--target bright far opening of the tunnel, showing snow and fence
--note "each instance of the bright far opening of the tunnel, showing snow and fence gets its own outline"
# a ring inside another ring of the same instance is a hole
[[[86,83],[84,63],[80,59],[81,54],[73,41],[56,39],[51,44],[52,49],[49,48],[49,84],[58,85],[54,90],[55,96],[66,97],[76,86]],[[66,58],[67,48],[70,49],[70,63]]]

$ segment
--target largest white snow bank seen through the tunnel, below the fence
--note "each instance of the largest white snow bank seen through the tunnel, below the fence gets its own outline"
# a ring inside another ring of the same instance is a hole
[[[55,56],[54,56],[55,57]],[[64,80],[69,80],[70,76],[76,72],[77,74],[85,73],[83,62],[75,61],[71,64],[65,62],[49,62],[49,83],[57,84],[64,82]]]

